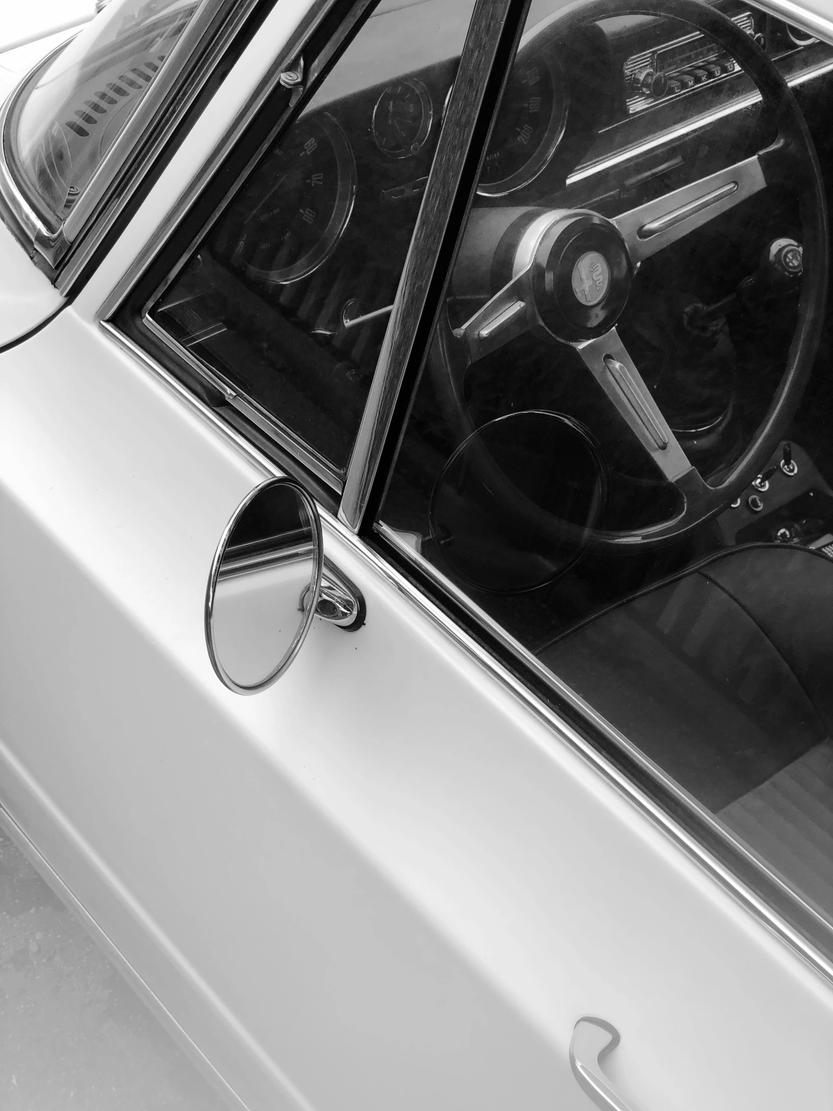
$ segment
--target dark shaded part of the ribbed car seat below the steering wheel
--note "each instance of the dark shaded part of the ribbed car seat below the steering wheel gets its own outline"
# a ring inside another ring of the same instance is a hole
[[[717,812],[833,731],[833,561],[732,549],[539,655]]]

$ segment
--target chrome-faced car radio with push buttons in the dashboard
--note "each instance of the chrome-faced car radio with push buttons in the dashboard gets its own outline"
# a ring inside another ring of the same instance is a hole
[[[732,21],[746,34],[755,36],[752,12],[733,16]],[[720,81],[739,70],[740,66],[725,50],[700,32],[643,50],[632,54],[623,67],[628,114],[650,108],[661,98],[686,92],[695,84]]]

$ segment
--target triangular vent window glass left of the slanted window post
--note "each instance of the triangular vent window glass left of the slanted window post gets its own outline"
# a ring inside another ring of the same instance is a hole
[[[379,8],[147,313],[331,481],[343,476],[471,0]]]

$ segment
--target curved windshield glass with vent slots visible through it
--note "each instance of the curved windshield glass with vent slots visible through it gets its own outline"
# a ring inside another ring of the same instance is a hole
[[[6,154],[53,228],[67,218],[164,66],[199,0],[116,0],[17,98]]]

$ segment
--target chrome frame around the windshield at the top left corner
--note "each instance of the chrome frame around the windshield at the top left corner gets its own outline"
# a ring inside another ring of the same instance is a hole
[[[68,264],[57,276],[56,287],[60,293],[69,291],[89,262],[145,170],[181,123],[218,60],[261,2],[203,0],[171,51],[167,64],[149,86],[71,212],[57,228],[44,223],[19,187],[8,164],[6,144],[9,141],[9,117],[19,98],[31,79],[43,71],[74,36],[41,59],[12,89],[0,108],[0,198],[28,240],[27,247],[32,252],[37,251],[53,270],[79,244],[80,249],[72,253]],[[139,154],[134,158],[137,151]],[[99,213],[101,218],[94,220]]]

